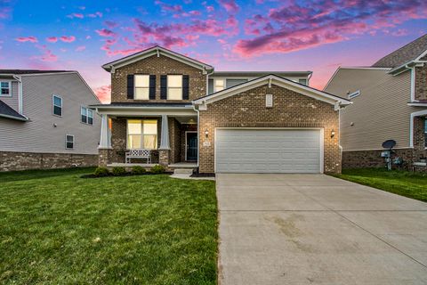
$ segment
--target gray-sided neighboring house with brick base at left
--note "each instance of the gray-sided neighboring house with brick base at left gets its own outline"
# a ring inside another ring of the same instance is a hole
[[[77,71],[0,69],[0,171],[93,166],[99,103]]]

